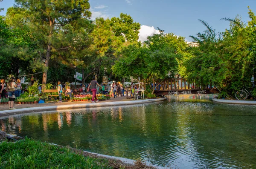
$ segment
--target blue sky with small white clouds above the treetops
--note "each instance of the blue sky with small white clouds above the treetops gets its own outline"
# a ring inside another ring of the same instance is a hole
[[[205,20],[217,31],[229,28],[229,23],[220,20],[224,17],[235,18],[237,14],[245,22],[249,20],[247,6],[256,13],[256,0],[90,0],[94,17],[119,17],[130,14],[143,29],[142,36],[155,33],[157,27],[166,33],[186,37],[203,32],[204,26],[198,19]],[[12,6],[14,0],[3,0],[0,8]],[[5,15],[5,11],[0,15]],[[154,27],[154,29],[152,28]]]

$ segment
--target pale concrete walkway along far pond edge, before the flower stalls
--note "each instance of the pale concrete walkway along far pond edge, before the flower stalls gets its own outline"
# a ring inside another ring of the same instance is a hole
[[[7,110],[0,111],[0,116],[6,115],[15,115],[27,112],[43,112],[50,110],[63,110],[63,109],[81,109],[81,108],[90,108],[90,107],[105,107],[105,106],[121,106],[121,105],[131,105],[131,104],[141,104],[141,103],[153,103],[157,101],[163,101],[166,98],[158,98],[158,99],[145,99],[145,100],[131,100],[126,99],[125,97],[113,98],[110,100],[99,101],[98,103],[91,103],[91,101],[87,102],[63,102],[63,103],[46,103],[46,104],[24,104],[25,107],[19,107],[19,105],[15,105],[17,109],[9,110],[8,105],[5,106]],[[23,105],[23,104],[22,104]]]

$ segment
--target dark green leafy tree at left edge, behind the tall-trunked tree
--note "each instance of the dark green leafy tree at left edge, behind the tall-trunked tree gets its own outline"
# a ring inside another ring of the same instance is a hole
[[[2,76],[23,74],[36,69],[29,32],[12,28],[0,17],[0,65]]]

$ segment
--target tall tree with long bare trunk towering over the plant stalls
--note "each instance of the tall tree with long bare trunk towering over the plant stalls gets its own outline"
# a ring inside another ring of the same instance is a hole
[[[79,65],[90,46],[91,15],[88,0],[15,0],[7,13],[15,26],[27,27],[44,61],[42,83],[47,83],[49,60]],[[20,16],[23,20],[17,20]]]

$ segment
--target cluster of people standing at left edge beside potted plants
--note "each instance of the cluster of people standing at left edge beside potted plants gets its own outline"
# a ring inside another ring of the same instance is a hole
[[[15,77],[11,77],[7,83],[4,79],[1,79],[0,82],[1,99],[6,98],[7,94],[7,97],[9,98],[9,109],[16,109],[13,107],[14,100],[16,97],[20,96],[22,90],[20,79],[16,80]]]

